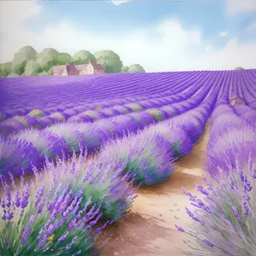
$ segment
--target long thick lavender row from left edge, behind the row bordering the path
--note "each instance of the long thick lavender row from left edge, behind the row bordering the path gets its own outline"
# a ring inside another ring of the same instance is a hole
[[[201,90],[201,93],[188,100],[186,104],[181,102],[178,105],[177,103],[175,108],[171,105],[112,119],[102,119],[93,124],[57,124],[43,131],[28,130],[13,137],[2,137],[0,138],[2,151],[0,155],[3,163],[1,171],[5,175],[12,172],[14,176],[20,176],[22,166],[24,172],[29,173],[31,161],[34,166],[41,169],[44,165],[45,154],[50,159],[55,159],[56,156],[61,155],[62,151],[66,155],[73,149],[79,152],[79,145],[87,148],[91,154],[112,138],[143,130],[154,122],[172,118],[190,108],[195,108],[205,98],[207,92],[207,90]]]

